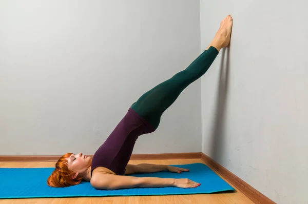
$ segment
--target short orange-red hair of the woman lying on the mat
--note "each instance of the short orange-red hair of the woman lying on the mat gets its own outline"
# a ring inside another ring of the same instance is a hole
[[[67,160],[73,153],[66,153],[55,164],[55,169],[47,178],[47,185],[50,187],[69,187],[78,185],[82,181],[82,176],[72,179],[74,172],[68,169]]]

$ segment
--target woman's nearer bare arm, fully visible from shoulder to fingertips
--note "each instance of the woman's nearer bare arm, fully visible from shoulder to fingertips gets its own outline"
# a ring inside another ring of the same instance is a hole
[[[154,188],[154,187],[178,187],[196,188],[200,183],[187,178],[158,178],[158,177],[133,177],[119,176],[108,173],[97,173],[91,178],[91,185],[95,189],[116,190],[135,187]]]

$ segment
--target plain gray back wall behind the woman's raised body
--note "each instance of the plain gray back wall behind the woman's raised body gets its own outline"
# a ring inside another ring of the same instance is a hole
[[[200,52],[199,1],[1,1],[0,155],[93,154]],[[133,153],[201,151],[201,80]]]

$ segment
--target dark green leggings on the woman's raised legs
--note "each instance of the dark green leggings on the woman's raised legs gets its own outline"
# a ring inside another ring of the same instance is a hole
[[[194,60],[185,70],[143,94],[131,108],[146,119],[153,127],[158,128],[162,114],[179,97],[180,93],[192,82],[200,78],[214,62],[218,50],[209,47]]]

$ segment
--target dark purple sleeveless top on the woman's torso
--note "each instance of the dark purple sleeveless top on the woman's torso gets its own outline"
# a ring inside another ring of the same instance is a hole
[[[117,175],[124,175],[137,138],[154,131],[153,126],[129,108],[104,144],[93,155],[91,175],[97,167],[105,167]]]

